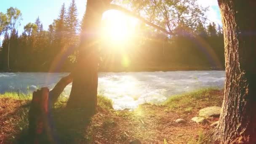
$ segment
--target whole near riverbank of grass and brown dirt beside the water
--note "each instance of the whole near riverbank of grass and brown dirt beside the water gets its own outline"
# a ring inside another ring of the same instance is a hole
[[[116,111],[111,100],[99,96],[98,113],[88,120],[83,117],[83,110],[65,109],[67,100],[61,99],[53,110],[53,124],[62,143],[126,144],[139,139],[142,144],[195,144],[202,142],[218,118],[197,124],[191,121],[192,117],[202,108],[221,107],[222,100],[223,90],[204,89],[171,96],[163,104],[142,104],[134,111]],[[16,93],[0,95],[0,143],[29,139],[28,103],[26,96]],[[180,118],[186,122],[176,123]]]

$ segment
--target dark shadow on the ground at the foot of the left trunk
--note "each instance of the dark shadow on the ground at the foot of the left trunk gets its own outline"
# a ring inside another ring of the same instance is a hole
[[[91,117],[84,109],[67,109],[65,107],[53,109],[48,116],[49,131],[39,139],[39,144],[83,144],[90,143],[86,136],[86,129]],[[16,144],[33,144],[28,128],[21,131],[15,141]]]

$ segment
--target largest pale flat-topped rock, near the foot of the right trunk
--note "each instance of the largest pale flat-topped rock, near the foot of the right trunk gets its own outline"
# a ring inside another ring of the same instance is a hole
[[[221,107],[205,107],[199,111],[199,117],[219,117],[220,114]]]

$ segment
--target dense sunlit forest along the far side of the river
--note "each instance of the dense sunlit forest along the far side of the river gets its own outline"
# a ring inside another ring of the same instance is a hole
[[[144,11],[142,14],[145,19],[161,27],[170,27],[176,35],[169,37],[155,28],[138,23],[133,37],[127,38],[126,43],[117,46],[117,49],[124,51],[112,51],[111,44],[101,42],[100,71],[224,68],[221,26],[218,25],[217,31],[214,23],[206,28],[204,13],[208,8],[197,5],[195,0],[117,0],[115,3],[130,5],[138,13]],[[8,11],[9,14],[0,13],[0,29],[5,29],[2,27],[5,27],[3,24],[6,22],[8,28],[11,26],[9,19],[16,19],[16,25],[21,20],[21,12],[17,8],[9,8]],[[177,13],[180,13],[179,17],[176,16]],[[192,13],[193,16],[186,17]],[[166,22],[168,20],[169,22]],[[78,32],[83,30],[84,25],[83,19],[79,31],[77,6],[75,0],[72,0],[67,11],[65,5],[61,5],[58,18],[48,26],[47,31],[43,29],[42,22],[37,17],[35,23],[25,25],[24,32],[20,32],[21,35],[18,35],[15,27],[12,32],[2,32],[5,37],[0,52],[0,69],[7,69],[9,51],[9,63],[13,71],[71,71],[79,54]],[[122,65],[124,53],[129,61],[129,65],[125,67]]]

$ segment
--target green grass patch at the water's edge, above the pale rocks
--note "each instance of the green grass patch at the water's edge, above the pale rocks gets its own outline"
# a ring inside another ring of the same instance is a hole
[[[220,106],[222,99],[213,96],[214,92],[217,91],[219,91],[217,88],[203,88],[189,93],[174,95],[164,101],[163,105],[169,107],[171,111],[182,110],[185,113],[190,112],[192,108],[200,108],[203,105]],[[200,105],[198,105],[199,102]]]

